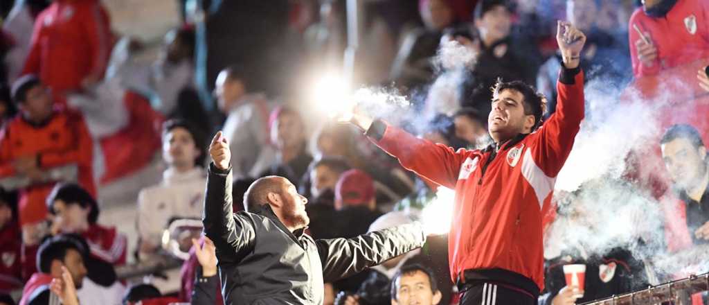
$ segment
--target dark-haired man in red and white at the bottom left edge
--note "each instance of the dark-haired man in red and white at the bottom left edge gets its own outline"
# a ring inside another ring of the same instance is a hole
[[[88,273],[84,265],[85,253],[82,244],[68,236],[45,240],[37,255],[39,272],[25,284],[20,305],[50,304],[50,283],[52,279],[62,278],[62,272],[68,271],[76,289],[81,289]]]

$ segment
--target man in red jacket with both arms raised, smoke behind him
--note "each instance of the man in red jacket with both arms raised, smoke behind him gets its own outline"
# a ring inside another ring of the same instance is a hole
[[[544,287],[542,215],[584,118],[579,54],[586,36],[561,21],[557,30],[564,70],[557,111],[544,125],[542,96],[522,82],[496,85],[488,116],[495,144],[484,150],[454,151],[352,116],[403,167],[455,189],[448,255],[451,277],[464,292],[461,304],[537,304]]]

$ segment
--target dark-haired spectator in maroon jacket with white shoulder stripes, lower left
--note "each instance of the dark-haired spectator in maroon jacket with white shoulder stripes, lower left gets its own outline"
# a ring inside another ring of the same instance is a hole
[[[86,239],[93,257],[112,265],[125,264],[125,235],[116,228],[96,223],[99,205],[86,189],[77,184],[57,184],[47,198],[47,209],[54,215],[51,233],[76,233]]]

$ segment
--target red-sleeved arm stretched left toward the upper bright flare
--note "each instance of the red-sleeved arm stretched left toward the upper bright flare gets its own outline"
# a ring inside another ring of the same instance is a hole
[[[407,170],[449,189],[455,189],[460,166],[471,155],[470,150],[455,151],[361,113],[353,114],[351,122],[367,131],[367,136],[374,144],[396,157]]]

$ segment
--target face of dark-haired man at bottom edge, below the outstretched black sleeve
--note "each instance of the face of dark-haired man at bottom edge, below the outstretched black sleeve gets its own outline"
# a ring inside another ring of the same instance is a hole
[[[436,305],[441,301],[440,292],[433,292],[431,283],[424,272],[416,270],[401,275],[397,280],[396,300],[391,305]]]

